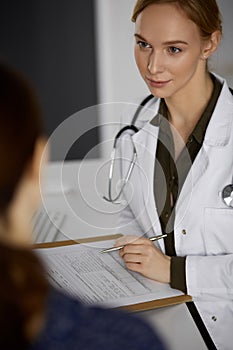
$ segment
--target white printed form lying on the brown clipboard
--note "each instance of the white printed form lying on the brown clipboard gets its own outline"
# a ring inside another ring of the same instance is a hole
[[[53,284],[86,304],[122,307],[184,295],[168,284],[127,270],[118,252],[100,254],[114,241],[37,249]]]

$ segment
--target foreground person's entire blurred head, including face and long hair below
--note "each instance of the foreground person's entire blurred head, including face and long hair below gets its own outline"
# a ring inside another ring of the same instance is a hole
[[[48,283],[29,243],[45,142],[32,87],[0,63],[0,349],[26,349],[43,325]]]

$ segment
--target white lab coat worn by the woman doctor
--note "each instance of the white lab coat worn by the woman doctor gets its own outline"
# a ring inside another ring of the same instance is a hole
[[[205,139],[182,187],[174,225],[177,256],[187,256],[187,292],[218,349],[233,342],[233,208],[221,198],[233,179],[233,96],[226,81]],[[139,132],[132,136],[137,163],[126,186],[127,206],[121,212],[123,234],[161,234],[154,200],[154,161],[159,127],[150,124],[159,100],[139,114]],[[132,113],[124,123],[132,120]],[[132,158],[129,135],[122,136],[123,158]],[[122,163],[122,173],[126,167]],[[157,245],[164,252],[163,240]]]

